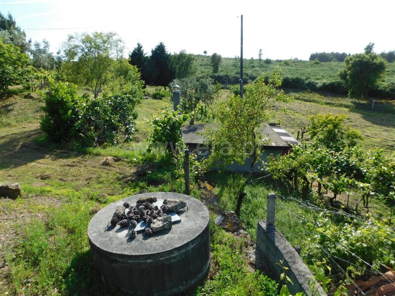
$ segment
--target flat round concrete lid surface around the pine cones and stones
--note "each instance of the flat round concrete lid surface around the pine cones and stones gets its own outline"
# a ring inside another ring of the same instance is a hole
[[[118,206],[122,206],[124,202],[134,206],[139,198],[149,196],[156,196],[158,199],[181,199],[187,203],[188,211],[181,210],[177,213],[181,222],[173,224],[169,231],[154,233],[150,237],[137,234],[135,239],[130,240],[127,228],[111,226],[109,222]],[[208,210],[196,198],[174,192],[150,192],[123,198],[97,212],[89,222],[88,238],[91,244],[104,252],[125,256],[150,255],[181,247],[196,238],[208,223]]]

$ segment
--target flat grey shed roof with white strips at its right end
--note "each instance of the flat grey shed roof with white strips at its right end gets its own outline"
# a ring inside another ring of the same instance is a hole
[[[203,144],[206,124],[184,125],[181,129],[182,138],[185,144]],[[215,126],[209,125],[213,128]],[[264,147],[288,148],[291,144],[299,142],[280,125],[262,125],[260,128]]]

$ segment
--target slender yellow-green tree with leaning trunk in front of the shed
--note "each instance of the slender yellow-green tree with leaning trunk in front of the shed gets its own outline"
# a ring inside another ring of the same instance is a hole
[[[259,128],[270,118],[271,100],[287,100],[284,93],[276,89],[280,85],[281,77],[276,69],[269,75],[268,84],[264,76],[247,84],[243,98],[230,93],[226,101],[219,103],[218,129],[207,131],[208,144],[212,147],[205,160],[207,167],[226,168],[234,162],[244,164],[247,158],[251,159],[248,177],[239,192],[237,214],[245,195],[244,187],[252,181],[253,169],[262,152],[264,143]]]

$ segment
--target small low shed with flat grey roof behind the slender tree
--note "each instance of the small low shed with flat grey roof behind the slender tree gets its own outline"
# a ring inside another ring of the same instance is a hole
[[[185,145],[188,147],[190,153],[195,152],[197,154],[198,160],[207,158],[210,154],[210,147],[204,143],[204,132],[207,126],[215,128],[213,125],[194,124],[184,125],[181,129]],[[293,145],[299,144],[290,133],[282,126],[276,125],[275,123],[262,125],[260,132],[262,140],[265,143],[263,145],[264,152],[261,154],[261,161],[257,161],[254,172],[260,172],[259,166],[261,162],[265,161],[270,154],[273,154],[273,156],[286,154],[292,149]],[[231,172],[248,172],[250,163],[251,158],[246,158],[243,164],[233,163],[227,170]]]

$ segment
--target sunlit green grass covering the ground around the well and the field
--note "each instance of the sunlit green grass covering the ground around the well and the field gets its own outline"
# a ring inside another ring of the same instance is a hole
[[[149,88],[151,93],[154,89]],[[171,107],[169,100],[145,99],[137,107],[139,117],[136,142],[108,148],[74,148],[50,144],[39,129],[43,101],[24,99],[18,90],[0,99],[1,106],[12,105],[6,116],[0,115],[0,182],[19,182],[23,196],[15,201],[0,199],[0,294],[9,295],[117,295],[104,286],[92,272],[92,260],[86,237],[90,218],[102,207],[123,197],[147,191],[183,192],[182,178],[160,154],[144,153],[152,126],[144,119],[160,116]],[[222,91],[225,99],[227,91]],[[334,98],[304,95],[289,104],[276,103],[274,120],[296,135],[300,119],[318,112],[345,113],[349,123],[364,136],[365,147],[377,143],[394,148],[395,116],[391,106],[383,111],[369,111],[363,102],[353,103]],[[351,105],[350,105],[351,104]],[[354,106],[354,108],[353,108]],[[366,107],[366,108],[365,108]],[[4,111],[2,111],[4,112]],[[7,120],[7,121],[6,121]],[[299,121],[298,121],[299,120]],[[102,166],[104,156],[120,157],[113,166]],[[136,176],[143,160],[152,164],[151,172]],[[236,208],[237,178],[227,174],[208,174],[215,186],[222,209]],[[128,182],[127,182],[128,181]],[[266,196],[278,188],[257,184],[246,188],[241,221],[253,239],[256,223],[266,217]],[[192,184],[192,195],[201,191]],[[379,210],[378,210],[379,211]],[[297,215],[293,215],[296,213]],[[292,245],[308,244],[299,216],[314,221],[310,211],[296,202],[277,200],[276,224]],[[257,273],[251,273],[240,248],[241,241],[211,223],[212,265],[209,279],[197,290],[198,295],[272,295],[276,284]],[[7,235],[7,236],[6,236]],[[311,238],[313,239],[313,238]]]

